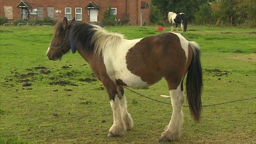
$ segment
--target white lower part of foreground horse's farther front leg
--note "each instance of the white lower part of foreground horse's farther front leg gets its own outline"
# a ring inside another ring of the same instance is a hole
[[[122,107],[122,118],[126,125],[126,130],[131,130],[133,128],[133,120],[131,118],[131,114],[127,112],[127,104],[126,104],[125,96],[123,96],[123,98],[120,100],[120,104]]]

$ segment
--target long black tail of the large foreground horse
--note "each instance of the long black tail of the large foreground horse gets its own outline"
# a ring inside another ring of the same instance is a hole
[[[189,44],[192,47],[193,56],[188,68],[186,94],[190,114],[196,122],[199,122],[202,111],[201,94],[203,86],[200,49],[195,42],[189,42]]]

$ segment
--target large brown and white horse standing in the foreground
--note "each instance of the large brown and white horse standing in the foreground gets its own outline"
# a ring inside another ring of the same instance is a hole
[[[123,86],[143,88],[162,77],[168,83],[173,110],[159,141],[181,138],[182,82],[186,73],[190,113],[196,122],[200,120],[202,69],[200,50],[195,42],[172,32],[126,40],[122,34],[107,32],[100,26],[75,22],[74,18],[68,22],[64,18],[56,24],[46,54],[50,60],[59,60],[70,49],[73,53],[78,51],[90,64],[108,92],[114,117],[108,136],[121,136],[133,127]]]

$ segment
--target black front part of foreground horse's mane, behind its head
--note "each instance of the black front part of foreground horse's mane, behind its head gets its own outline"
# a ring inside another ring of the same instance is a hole
[[[94,44],[92,44],[92,36],[95,33],[93,25],[87,24],[85,22],[78,22],[72,24],[69,34],[69,42],[72,53],[76,52],[76,48],[83,48],[89,52],[94,51]]]

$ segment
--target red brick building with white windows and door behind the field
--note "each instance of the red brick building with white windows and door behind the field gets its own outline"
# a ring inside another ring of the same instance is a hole
[[[62,20],[76,17],[83,22],[100,22],[108,5],[117,20],[129,19],[132,25],[150,22],[151,0],[0,0],[0,16],[15,19]]]

